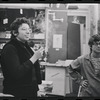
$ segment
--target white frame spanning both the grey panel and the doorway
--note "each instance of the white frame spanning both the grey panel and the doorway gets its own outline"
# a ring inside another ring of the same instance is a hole
[[[46,8],[45,10],[45,15],[46,15],[46,47],[45,51],[48,52],[48,16],[49,16],[49,11],[61,11],[61,12],[66,12],[67,16],[84,16],[86,17],[86,41],[85,44],[82,43],[83,38],[82,38],[82,31],[81,31],[81,55],[89,53],[90,49],[88,46],[88,40],[90,38],[90,13],[88,10],[51,10],[50,8]]]

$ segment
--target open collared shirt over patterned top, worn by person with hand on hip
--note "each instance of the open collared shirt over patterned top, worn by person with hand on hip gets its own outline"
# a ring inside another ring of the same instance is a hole
[[[92,64],[90,54],[75,59],[69,67],[69,73],[79,83],[81,77],[88,80],[88,86],[81,89],[80,96],[100,96],[100,76],[95,75],[95,66]]]

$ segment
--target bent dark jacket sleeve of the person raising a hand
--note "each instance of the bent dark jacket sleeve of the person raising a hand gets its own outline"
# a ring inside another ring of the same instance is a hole
[[[2,70],[12,79],[22,79],[34,66],[30,60],[20,63],[16,48],[13,45],[6,46],[1,53]]]

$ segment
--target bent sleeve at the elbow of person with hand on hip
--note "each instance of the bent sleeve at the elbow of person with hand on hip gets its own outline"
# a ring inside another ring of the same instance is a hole
[[[69,72],[70,76],[78,84],[81,82],[80,67],[81,67],[81,58],[80,57],[73,60],[72,63],[68,66],[68,72]]]

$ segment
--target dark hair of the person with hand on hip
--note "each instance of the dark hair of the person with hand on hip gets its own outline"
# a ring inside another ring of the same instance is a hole
[[[100,35],[95,34],[92,35],[89,39],[88,45],[90,46],[90,52],[92,52],[92,45],[94,45],[94,42],[100,41]]]

